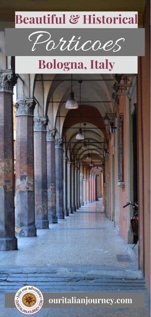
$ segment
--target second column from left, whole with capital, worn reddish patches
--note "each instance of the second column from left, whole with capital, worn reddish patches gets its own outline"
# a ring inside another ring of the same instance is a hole
[[[34,203],[33,98],[16,103],[16,226],[19,236],[36,236]]]

